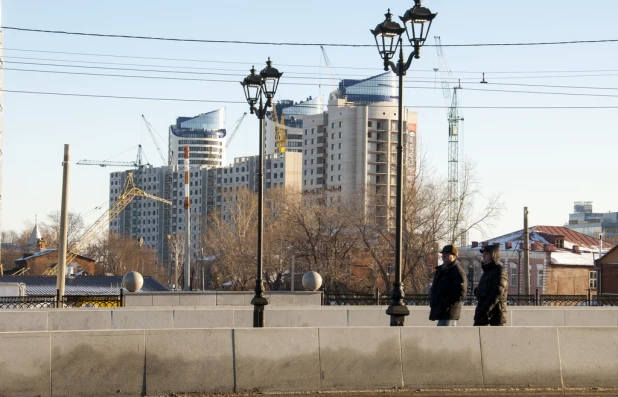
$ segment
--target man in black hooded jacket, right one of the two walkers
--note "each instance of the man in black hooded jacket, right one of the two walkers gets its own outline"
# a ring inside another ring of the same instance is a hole
[[[481,248],[483,275],[474,294],[478,300],[474,313],[474,325],[506,324],[506,296],[508,278],[500,262],[500,246]]]

